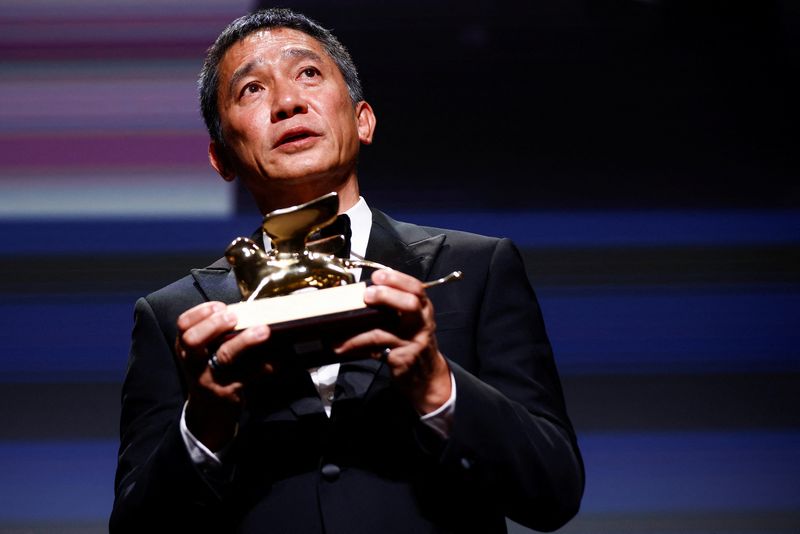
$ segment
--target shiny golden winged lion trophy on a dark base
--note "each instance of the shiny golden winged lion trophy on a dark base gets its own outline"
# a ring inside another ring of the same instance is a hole
[[[341,361],[333,346],[371,328],[392,329],[393,310],[364,303],[365,282],[356,282],[353,269],[389,267],[369,260],[337,257],[333,250],[348,236],[316,238],[333,224],[339,211],[336,193],[264,216],[262,229],[271,249],[237,237],[225,251],[233,268],[242,302],[232,304],[236,332],[257,324],[270,325],[269,340],[256,352],[258,359],[315,367]],[[427,282],[426,287],[461,277],[456,271]]]

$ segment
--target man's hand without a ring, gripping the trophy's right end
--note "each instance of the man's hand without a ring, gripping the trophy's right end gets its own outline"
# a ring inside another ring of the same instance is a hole
[[[373,358],[385,358],[393,379],[408,395],[420,414],[430,413],[450,398],[450,369],[436,343],[433,304],[422,282],[399,271],[383,269],[372,274],[375,285],[367,288],[364,302],[388,306],[400,314],[394,332],[370,330],[356,335],[336,353],[368,351]],[[383,354],[383,349],[390,351]]]

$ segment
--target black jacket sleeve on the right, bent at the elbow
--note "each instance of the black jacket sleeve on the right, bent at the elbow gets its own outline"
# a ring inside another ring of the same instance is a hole
[[[516,247],[497,241],[476,324],[478,369],[457,384],[442,462],[504,515],[554,530],[578,511],[584,469],[539,305]]]

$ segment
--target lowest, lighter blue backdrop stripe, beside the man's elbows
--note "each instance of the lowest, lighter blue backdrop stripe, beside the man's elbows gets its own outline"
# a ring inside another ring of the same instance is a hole
[[[582,514],[730,514],[800,508],[800,432],[615,432],[578,436]],[[116,440],[0,442],[0,526],[103,521]]]

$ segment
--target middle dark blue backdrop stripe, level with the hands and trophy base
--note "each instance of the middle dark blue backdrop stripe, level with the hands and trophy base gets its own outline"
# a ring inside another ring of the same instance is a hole
[[[237,235],[248,234],[220,236],[204,264],[186,265],[181,274],[221,257]],[[47,237],[58,240],[57,233]],[[125,236],[106,236],[115,238],[117,246],[136,246]],[[92,258],[87,256],[86,261]],[[153,261],[156,268],[157,258]],[[114,276],[109,272],[98,280],[96,292],[5,295],[0,303],[4,325],[0,380],[120,379],[139,295],[114,294]],[[800,371],[800,330],[795,318],[800,291],[796,288],[759,292],[743,286],[736,291],[686,295],[665,295],[663,289],[652,288],[640,288],[635,295],[583,293],[544,294],[540,299],[556,362],[564,375]],[[39,335],[43,320],[46,337]]]

